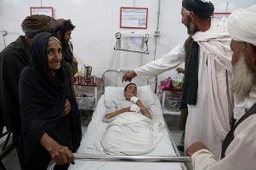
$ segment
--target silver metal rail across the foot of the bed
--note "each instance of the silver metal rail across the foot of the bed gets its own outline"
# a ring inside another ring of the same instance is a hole
[[[134,161],[134,162],[191,162],[189,156],[115,156],[115,155],[94,155],[74,154],[75,160],[87,161]],[[54,169],[55,163],[50,163],[48,170]]]

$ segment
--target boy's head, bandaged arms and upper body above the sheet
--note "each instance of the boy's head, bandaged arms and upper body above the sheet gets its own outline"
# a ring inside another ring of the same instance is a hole
[[[133,82],[129,83],[124,88],[124,99],[120,102],[113,102],[109,108],[107,108],[103,122],[110,122],[113,117],[125,112],[137,112],[144,116],[151,118],[150,111],[142,104],[137,95],[137,86]]]

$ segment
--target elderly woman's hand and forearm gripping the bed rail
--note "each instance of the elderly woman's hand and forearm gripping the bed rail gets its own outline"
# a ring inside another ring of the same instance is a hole
[[[74,161],[71,150],[66,146],[58,144],[48,133],[43,133],[40,143],[48,150],[48,153],[56,164],[67,164]]]

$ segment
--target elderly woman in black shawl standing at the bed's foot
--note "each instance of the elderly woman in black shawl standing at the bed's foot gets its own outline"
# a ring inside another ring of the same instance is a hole
[[[31,42],[32,64],[20,76],[21,133],[27,169],[47,169],[49,161],[67,169],[82,131],[77,103],[67,97],[60,41],[43,32]]]

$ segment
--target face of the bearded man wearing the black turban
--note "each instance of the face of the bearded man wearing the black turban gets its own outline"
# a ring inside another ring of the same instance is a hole
[[[198,31],[197,26],[191,22],[191,12],[188,11],[185,8],[181,8],[181,23],[184,24],[187,28],[187,32],[189,35],[193,35],[196,33],[196,31]]]

